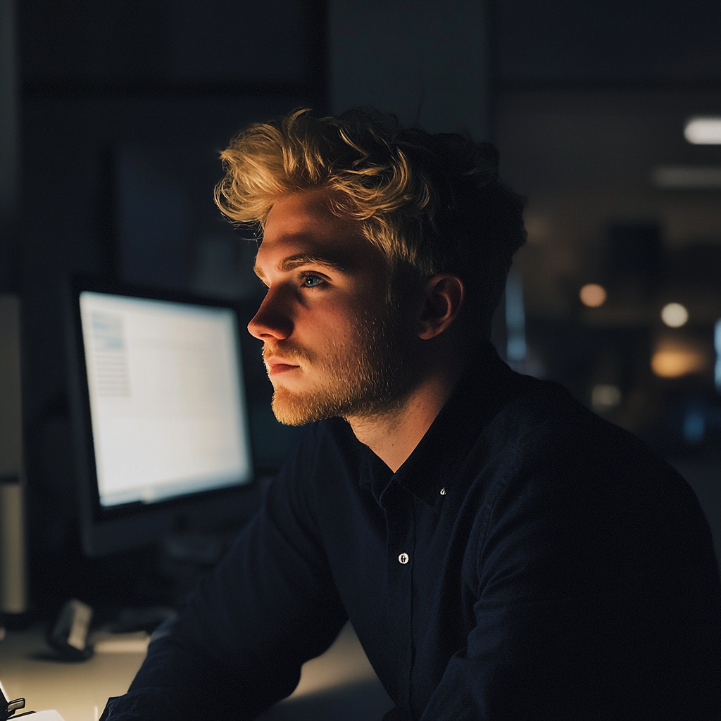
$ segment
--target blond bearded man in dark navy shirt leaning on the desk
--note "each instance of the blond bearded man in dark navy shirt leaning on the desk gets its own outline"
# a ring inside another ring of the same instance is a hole
[[[490,345],[524,239],[495,149],[296,112],[223,159],[218,204],[263,231],[273,410],[312,425],[103,718],[252,719],[347,619],[389,719],[717,717],[693,492]]]

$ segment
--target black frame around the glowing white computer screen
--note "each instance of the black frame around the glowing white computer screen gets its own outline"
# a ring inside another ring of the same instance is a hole
[[[66,293],[69,301],[68,312],[66,313],[68,324],[66,333],[68,340],[68,371],[70,375],[71,412],[74,421],[76,446],[76,476],[79,482],[84,551],[91,556],[96,556],[114,552],[123,547],[138,547],[155,540],[155,536],[172,533],[179,527],[200,528],[203,526],[202,519],[205,517],[213,517],[216,522],[223,519],[229,521],[231,516],[234,515],[230,509],[235,508],[237,505],[242,506],[244,510],[247,510],[245,507],[249,505],[255,507],[256,504],[253,501],[257,497],[257,469],[255,469],[253,463],[254,454],[247,408],[244,410],[244,430],[252,468],[252,474],[248,482],[190,492],[152,503],[133,501],[112,506],[104,506],[100,503],[80,312],[80,295],[86,291],[128,298],[223,308],[232,311],[236,324],[237,354],[240,366],[239,384],[243,399],[247,399],[239,306],[234,304],[233,301],[207,298],[185,291],[145,288],[89,275],[72,275],[68,278],[68,293]],[[229,503],[231,498],[239,500],[239,504]],[[148,526],[149,523],[153,522],[157,524],[156,528],[145,528],[143,532],[143,526]],[[131,534],[132,529],[135,529],[134,541],[127,538],[112,539],[113,536],[118,536],[118,534],[125,535],[123,528],[130,531]]]

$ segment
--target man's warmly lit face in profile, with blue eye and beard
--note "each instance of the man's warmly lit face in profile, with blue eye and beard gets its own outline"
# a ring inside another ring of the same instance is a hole
[[[391,410],[415,382],[412,314],[388,301],[384,256],[323,190],[270,211],[255,261],[268,288],[248,324],[263,341],[273,412],[302,425]]]

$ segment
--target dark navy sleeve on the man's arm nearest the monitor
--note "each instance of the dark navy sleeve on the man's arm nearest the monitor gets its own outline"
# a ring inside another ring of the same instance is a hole
[[[317,529],[313,441],[311,428],[104,721],[253,719],[335,639],[347,616]]]

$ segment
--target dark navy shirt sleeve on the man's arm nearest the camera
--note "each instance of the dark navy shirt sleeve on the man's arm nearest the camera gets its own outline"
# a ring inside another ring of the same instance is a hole
[[[500,490],[477,550],[475,627],[423,720],[717,717],[706,539],[631,490],[609,502],[603,485],[560,468]],[[679,491],[678,518],[694,500]]]

